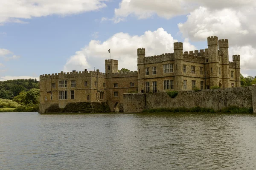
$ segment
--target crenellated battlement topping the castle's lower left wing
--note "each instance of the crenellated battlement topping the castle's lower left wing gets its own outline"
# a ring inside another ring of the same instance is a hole
[[[40,75],[40,81],[43,79],[59,79],[59,78],[75,78],[75,77],[102,77],[105,78],[106,74],[96,71],[76,71],[76,72],[63,72],[54,74],[42,74]]]

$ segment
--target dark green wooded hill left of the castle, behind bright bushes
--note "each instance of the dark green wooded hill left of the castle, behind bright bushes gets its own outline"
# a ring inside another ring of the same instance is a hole
[[[13,99],[21,91],[29,91],[32,88],[39,89],[39,81],[36,79],[15,79],[0,81],[0,98]]]

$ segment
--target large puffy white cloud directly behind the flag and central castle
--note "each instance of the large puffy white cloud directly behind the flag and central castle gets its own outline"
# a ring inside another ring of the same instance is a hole
[[[177,42],[171,34],[158,28],[156,31],[145,31],[143,35],[131,36],[126,33],[117,33],[108,40],[101,42],[91,40],[88,45],[77,51],[75,55],[67,59],[64,71],[84,70],[85,68],[99,68],[105,72],[105,66],[100,65],[105,59],[109,59],[108,49],[111,48],[111,59],[119,60],[119,69],[128,68],[137,70],[137,48],[145,48],[146,56],[159,55],[173,52],[173,43]],[[185,39],[184,51],[195,50],[195,46]],[[99,62],[100,61],[100,62]]]

